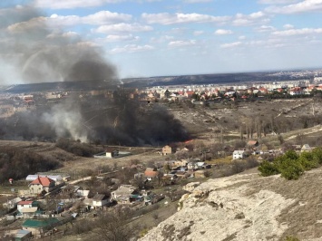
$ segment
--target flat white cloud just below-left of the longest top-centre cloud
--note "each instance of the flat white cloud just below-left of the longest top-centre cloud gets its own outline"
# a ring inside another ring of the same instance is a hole
[[[112,34],[112,33],[132,33],[132,32],[149,32],[153,28],[149,25],[141,24],[111,24],[111,25],[102,25],[97,29],[93,30],[94,33],[100,34]]]

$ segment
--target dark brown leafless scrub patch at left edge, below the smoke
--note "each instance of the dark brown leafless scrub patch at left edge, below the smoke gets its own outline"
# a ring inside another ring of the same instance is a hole
[[[58,169],[61,163],[50,157],[43,157],[32,150],[16,147],[0,148],[0,182],[8,178],[20,179],[34,172]]]

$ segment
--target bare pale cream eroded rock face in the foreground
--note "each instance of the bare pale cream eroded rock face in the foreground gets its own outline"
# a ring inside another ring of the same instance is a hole
[[[269,190],[251,191],[259,178],[238,175],[190,183],[179,211],[141,238],[150,240],[278,240],[288,228],[278,223],[293,199]]]

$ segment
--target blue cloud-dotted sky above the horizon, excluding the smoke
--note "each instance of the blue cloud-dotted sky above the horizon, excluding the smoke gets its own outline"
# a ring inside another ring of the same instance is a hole
[[[44,38],[60,34],[77,39],[69,44],[99,48],[121,78],[322,63],[322,0],[2,0],[0,17],[27,7],[37,14],[0,24],[0,31],[45,23]]]

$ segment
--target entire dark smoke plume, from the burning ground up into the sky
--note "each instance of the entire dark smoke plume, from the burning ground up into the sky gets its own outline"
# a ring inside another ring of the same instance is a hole
[[[91,91],[100,82],[107,82],[111,89],[119,82],[102,48],[49,26],[44,14],[32,6],[0,10],[0,28],[2,83],[86,81],[92,83]],[[123,90],[114,92],[113,100],[69,94],[57,104],[0,120],[0,135],[15,140],[67,137],[121,145],[158,145],[188,138],[180,121],[161,105],[142,107],[125,98]]]

